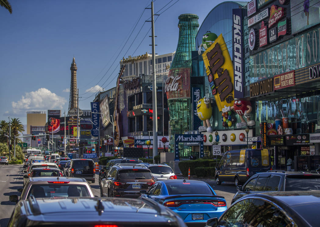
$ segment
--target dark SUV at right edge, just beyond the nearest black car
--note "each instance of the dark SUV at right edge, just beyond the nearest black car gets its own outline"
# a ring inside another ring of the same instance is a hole
[[[320,190],[320,174],[269,170],[253,175],[243,186],[237,186],[237,190],[231,204],[251,193]]]

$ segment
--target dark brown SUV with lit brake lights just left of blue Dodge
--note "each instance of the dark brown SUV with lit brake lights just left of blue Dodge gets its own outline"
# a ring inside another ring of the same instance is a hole
[[[149,190],[155,183],[150,169],[142,164],[116,164],[100,184],[100,196],[138,198],[140,190]]]

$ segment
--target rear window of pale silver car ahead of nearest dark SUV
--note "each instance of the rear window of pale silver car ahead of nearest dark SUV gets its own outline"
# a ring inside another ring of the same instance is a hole
[[[53,178],[53,177],[52,177]],[[54,197],[90,197],[85,185],[79,184],[37,184],[30,187],[28,197],[33,195],[36,198]],[[27,197],[27,198],[28,198]]]

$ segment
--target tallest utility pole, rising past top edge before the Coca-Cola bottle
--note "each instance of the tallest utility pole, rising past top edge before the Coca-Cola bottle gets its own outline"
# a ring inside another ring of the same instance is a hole
[[[146,8],[150,9],[150,8]],[[152,120],[153,120],[153,163],[155,163],[155,156],[158,155],[158,118],[157,118],[157,86],[156,86],[156,58],[155,58],[155,21],[153,14],[153,1],[151,2],[151,39],[152,39]]]

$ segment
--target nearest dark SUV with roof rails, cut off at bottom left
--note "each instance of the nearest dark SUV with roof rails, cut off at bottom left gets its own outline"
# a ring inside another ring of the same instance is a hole
[[[186,227],[169,208],[148,199],[39,198],[20,200],[8,226]]]

